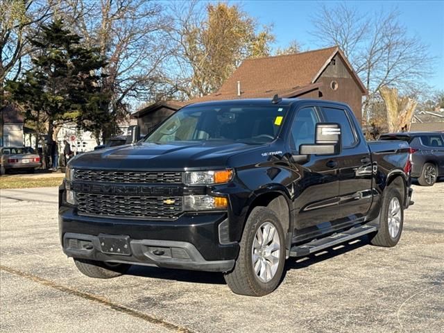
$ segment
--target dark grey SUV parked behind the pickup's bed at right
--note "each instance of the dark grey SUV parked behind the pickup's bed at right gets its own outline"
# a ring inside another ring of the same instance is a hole
[[[444,176],[444,135],[439,132],[383,134],[380,140],[404,140],[411,147],[411,177],[422,186],[432,186]]]

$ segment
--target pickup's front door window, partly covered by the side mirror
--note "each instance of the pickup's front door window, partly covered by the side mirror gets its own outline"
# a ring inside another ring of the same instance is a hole
[[[303,108],[298,111],[291,127],[293,149],[299,151],[301,144],[314,144],[314,132],[318,117],[314,108]]]

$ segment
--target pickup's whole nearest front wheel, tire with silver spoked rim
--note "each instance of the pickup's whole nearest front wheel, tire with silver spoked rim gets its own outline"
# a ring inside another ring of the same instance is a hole
[[[228,287],[246,296],[271,293],[280,284],[284,263],[285,237],[278,216],[255,207],[246,221],[236,264],[225,274]]]

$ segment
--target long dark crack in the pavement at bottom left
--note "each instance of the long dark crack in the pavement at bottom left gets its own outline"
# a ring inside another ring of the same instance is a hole
[[[135,318],[142,319],[143,321],[147,321],[148,323],[152,323],[155,325],[161,325],[168,330],[172,330],[175,332],[180,333],[193,333],[191,330],[187,329],[186,327],[182,327],[173,323],[169,323],[168,321],[164,321],[159,318],[155,318],[155,316],[151,316],[149,314],[144,314],[142,311],[138,311],[136,309],[131,309],[130,307],[126,307],[125,305],[118,305],[114,302],[111,302],[110,300],[107,300],[104,297],[94,295],[92,293],[85,293],[84,291],[78,291],[76,289],[72,289],[66,286],[63,286],[62,284],[57,284],[56,282],[53,282],[51,280],[46,280],[44,278],[40,278],[40,276],[33,275],[30,273],[26,273],[23,271],[19,271],[15,268],[10,268],[8,266],[0,265],[0,271],[5,271],[10,274],[17,275],[22,278],[26,278],[27,280],[37,282],[39,284],[42,284],[46,287],[51,287],[53,289],[57,289],[58,291],[62,291],[64,293],[69,293],[70,295],[77,296],[80,298],[84,298],[85,300],[89,300],[92,302],[99,303],[100,305],[104,305],[105,307],[108,307],[110,309],[113,309],[114,311],[121,312],[123,314],[128,314],[129,316],[133,316]]]

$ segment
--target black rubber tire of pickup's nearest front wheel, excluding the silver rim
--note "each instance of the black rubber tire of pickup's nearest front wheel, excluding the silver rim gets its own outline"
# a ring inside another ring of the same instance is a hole
[[[268,282],[262,282],[256,275],[253,267],[253,242],[256,232],[264,223],[271,223],[278,232],[280,241],[278,269]],[[230,273],[225,273],[225,282],[228,287],[239,295],[264,296],[275,290],[281,282],[285,264],[285,236],[278,216],[266,207],[255,207],[248,216],[244,233],[234,268]]]

